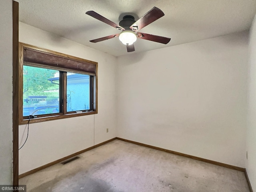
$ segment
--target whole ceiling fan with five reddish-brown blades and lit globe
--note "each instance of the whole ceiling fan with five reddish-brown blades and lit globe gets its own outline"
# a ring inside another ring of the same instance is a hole
[[[167,44],[171,40],[170,38],[167,38],[167,37],[138,32],[148,24],[164,16],[164,12],[162,12],[157,7],[153,7],[150,11],[144,14],[144,16],[142,16],[138,21],[135,21],[133,16],[126,15],[123,17],[123,20],[119,22],[119,25],[115,24],[114,22],[108,20],[107,18],[101,16],[100,14],[94,11],[88,11],[86,12],[86,14],[122,31],[120,32],[120,34],[114,34],[114,35],[90,40],[90,42],[93,42],[93,43],[119,37],[119,40],[124,45],[126,45],[127,52],[132,52],[132,51],[135,51],[133,43],[137,40],[137,38],[150,40],[150,41],[163,43],[163,44]]]

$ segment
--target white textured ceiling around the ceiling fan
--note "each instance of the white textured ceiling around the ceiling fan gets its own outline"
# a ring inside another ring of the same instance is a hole
[[[256,10],[256,0],[17,0],[20,21],[74,42],[114,56],[132,54],[118,38],[91,43],[89,40],[119,33],[115,28],[85,14],[94,10],[119,23],[124,13],[135,20],[154,6],[165,16],[140,32],[171,38],[167,44],[138,39],[135,52],[203,40],[248,30]]]

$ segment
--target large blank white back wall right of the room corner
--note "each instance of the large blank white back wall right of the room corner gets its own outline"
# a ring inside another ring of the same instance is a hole
[[[241,32],[118,57],[118,137],[244,168],[247,52]]]

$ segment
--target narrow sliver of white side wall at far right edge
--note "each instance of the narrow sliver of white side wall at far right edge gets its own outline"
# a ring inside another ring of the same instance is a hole
[[[256,16],[250,29],[248,66],[248,118],[246,151],[248,160],[246,170],[250,183],[256,191]]]

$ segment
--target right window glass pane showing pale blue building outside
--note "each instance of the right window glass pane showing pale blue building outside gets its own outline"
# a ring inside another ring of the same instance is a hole
[[[67,73],[67,112],[90,109],[90,76]]]

